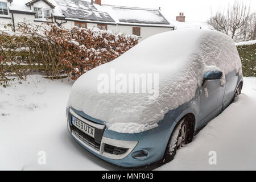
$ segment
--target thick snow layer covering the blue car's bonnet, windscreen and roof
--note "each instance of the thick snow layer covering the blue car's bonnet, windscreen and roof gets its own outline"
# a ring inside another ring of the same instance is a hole
[[[241,60],[229,36],[209,30],[168,31],[82,75],[72,86],[68,106],[106,122],[109,130],[140,133],[158,126],[164,114],[192,100],[205,72],[221,70],[225,83],[226,73],[240,69]],[[139,85],[131,84],[129,76],[136,74],[146,78],[147,84],[142,79]],[[129,90],[130,86],[134,88]],[[138,86],[139,93],[129,92]]]

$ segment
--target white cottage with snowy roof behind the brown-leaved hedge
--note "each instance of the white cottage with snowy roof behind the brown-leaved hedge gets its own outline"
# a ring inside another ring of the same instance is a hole
[[[24,21],[55,22],[65,28],[98,27],[135,34],[141,40],[175,29],[158,9],[102,5],[101,0],[0,0],[0,28]]]

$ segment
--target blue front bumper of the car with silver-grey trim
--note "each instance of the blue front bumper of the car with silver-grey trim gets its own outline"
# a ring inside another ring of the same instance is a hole
[[[174,123],[174,120],[168,119],[168,122],[159,122],[159,126],[154,129],[134,134],[117,133],[107,127],[101,139],[100,150],[95,150],[73,134],[71,122],[68,122],[68,131],[82,147],[98,158],[121,167],[139,167],[163,158],[168,139],[175,126]],[[128,150],[121,155],[109,154],[104,151],[105,144]]]

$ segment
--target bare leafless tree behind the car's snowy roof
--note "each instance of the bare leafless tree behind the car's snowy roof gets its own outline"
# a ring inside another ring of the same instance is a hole
[[[207,21],[217,31],[230,35],[236,41],[253,39],[255,15],[250,14],[250,6],[234,1],[228,9],[219,10]]]

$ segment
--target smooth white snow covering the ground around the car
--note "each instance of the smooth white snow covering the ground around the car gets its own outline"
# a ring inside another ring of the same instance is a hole
[[[73,81],[40,75],[0,87],[0,170],[120,169],[87,152],[69,136],[65,106]],[[256,77],[247,77],[237,102],[213,119],[160,170],[256,169]],[[46,165],[38,152],[46,152]],[[209,151],[217,164],[209,165]]]

